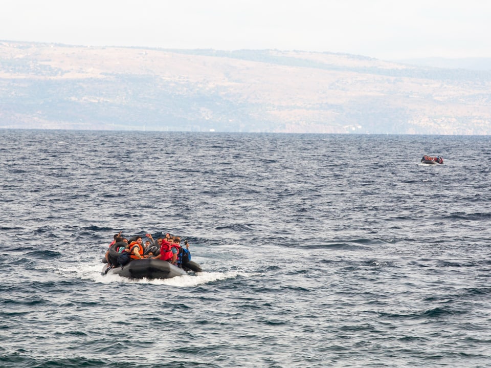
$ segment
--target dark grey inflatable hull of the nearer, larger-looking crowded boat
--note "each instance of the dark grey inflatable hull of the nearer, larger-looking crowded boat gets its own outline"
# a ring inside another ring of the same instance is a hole
[[[135,259],[124,266],[113,267],[104,265],[103,275],[119,275],[128,278],[172,278],[175,276],[186,275],[187,272],[203,272],[202,268],[193,261],[189,261],[183,268],[176,267],[167,261],[154,258]]]

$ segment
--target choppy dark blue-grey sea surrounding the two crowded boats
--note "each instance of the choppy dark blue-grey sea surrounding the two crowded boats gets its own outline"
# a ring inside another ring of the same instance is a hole
[[[0,158],[2,368],[491,366],[489,136],[2,129]],[[203,272],[104,276],[119,231]]]

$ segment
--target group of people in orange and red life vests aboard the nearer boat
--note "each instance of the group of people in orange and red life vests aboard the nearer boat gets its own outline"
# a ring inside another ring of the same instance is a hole
[[[184,245],[181,246],[181,237],[179,236],[166,233],[164,237],[154,240],[151,234],[145,234],[145,239],[145,243],[140,235],[126,239],[120,231],[114,235],[113,242],[109,244],[109,250],[105,254],[106,262],[110,266],[116,267],[124,266],[128,262],[138,259],[154,258],[186,269],[186,263],[191,261],[189,243],[185,240]]]

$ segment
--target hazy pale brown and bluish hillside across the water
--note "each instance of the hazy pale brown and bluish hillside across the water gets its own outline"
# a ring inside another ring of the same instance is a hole
[[[490,135],[491,72],[0,41],[0,127]]]

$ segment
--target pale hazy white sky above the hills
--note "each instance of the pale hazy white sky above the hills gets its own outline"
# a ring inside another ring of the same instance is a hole
[[[0,40],[491,57],[487,0],[3,0]]]

